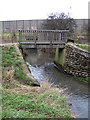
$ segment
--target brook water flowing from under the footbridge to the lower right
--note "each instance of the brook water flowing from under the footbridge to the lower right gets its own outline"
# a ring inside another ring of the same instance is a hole
[[[88,118],[88,85],[79,82],[73,76],[60,72],[53,63],[54,57],[40,50],[29,49],[26,62],[32,75],[41,83],[46,78],[59,88],[67,88],[67,103],[77,118]]]

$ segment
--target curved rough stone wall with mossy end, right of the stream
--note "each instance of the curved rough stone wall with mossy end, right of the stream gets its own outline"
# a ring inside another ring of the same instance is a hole
[[[62,50],[61,58],[59,57],[61,54],[59,51],[56,50],[55,63],[61,65],[65,72],[82,77],[90,76],[90,53],[87,50],[76,47],[72,43],[67,43]]]

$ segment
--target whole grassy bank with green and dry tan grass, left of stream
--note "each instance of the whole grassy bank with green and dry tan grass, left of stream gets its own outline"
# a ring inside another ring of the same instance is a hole
[[[31,86],[14,46],[2,47],[2,73],[2,118],[72,118],[61,90]]]

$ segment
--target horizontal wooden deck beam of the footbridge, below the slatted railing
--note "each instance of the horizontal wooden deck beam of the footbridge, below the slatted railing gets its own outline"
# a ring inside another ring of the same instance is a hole
[[[64,48],[65,42],[20,42],[22,48]]]

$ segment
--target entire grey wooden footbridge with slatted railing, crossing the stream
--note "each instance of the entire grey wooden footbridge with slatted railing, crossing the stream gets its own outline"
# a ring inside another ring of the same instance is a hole
[[[68,30],[19,30],[22,48],[64,48]]]

